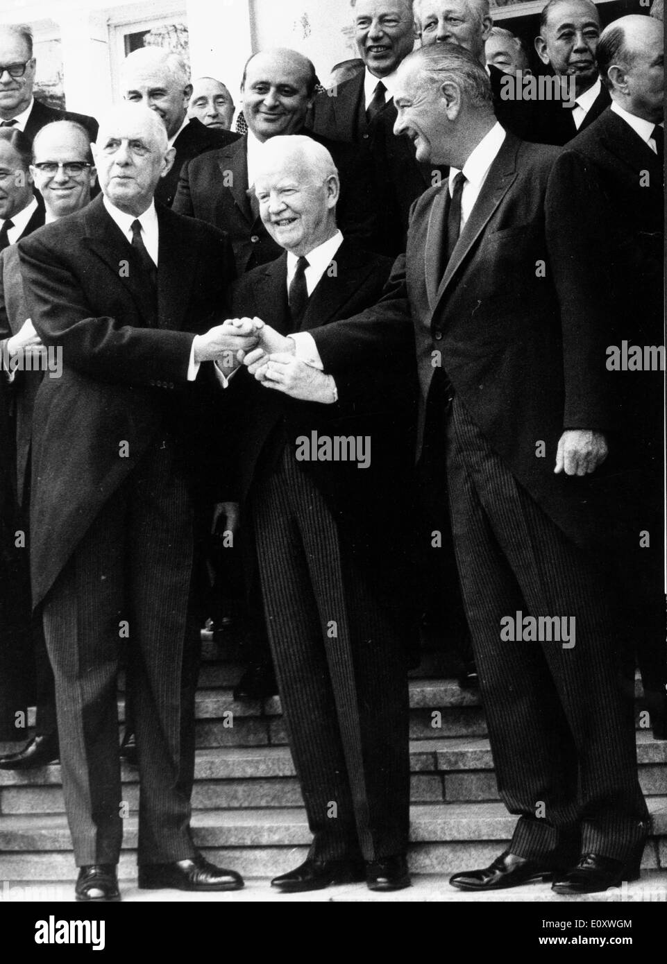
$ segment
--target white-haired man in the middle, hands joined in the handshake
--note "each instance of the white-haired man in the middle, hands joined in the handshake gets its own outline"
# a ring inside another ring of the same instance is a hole
[[[236,314],[266,319],[264,337],[282,343],[375,303],[391,261],[336,227],[338,175],[325,148],[306,137],[271,139],[255,188],[286,254],[238,281]],[[406,355],[410,340],[406,332]],[[272,884],[293,893],[366,879],[372,890],[395,890],[409,884],[409,564],[400,527],[386,521],[409,489],[412,368],[397,359],[391,370],[366,371],[347,407],[328,376],[291,355],[267,360],[258,349],[245,363],[250,375],[236,375],[231,389],[239,393],[239,493],[315,835],[306,862]],[[357,447],[351,461],[332,461],[315,442],[306,452],[316,435],[331,444],[363,439],[367,457],[361,464]]]

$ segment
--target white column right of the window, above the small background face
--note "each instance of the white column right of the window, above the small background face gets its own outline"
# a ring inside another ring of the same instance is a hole
[[[193,77],[216,77],[238,106],[243,67],[254,53],[250,0],[186,0]]]

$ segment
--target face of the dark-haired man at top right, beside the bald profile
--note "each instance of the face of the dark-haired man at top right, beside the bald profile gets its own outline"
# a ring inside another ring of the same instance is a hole
[[[549,11],[535,48],[542,64],[550,64],[558,76],[573,76],[577,94],[583,94],[598,79],[599,33],[593,4],[588,0],[563,0]]]

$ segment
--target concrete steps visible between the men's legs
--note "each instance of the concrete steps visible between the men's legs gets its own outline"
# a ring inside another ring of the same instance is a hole
[[[209,859],[244,876],[268,877],[306,855],[310,833],[276,697],[235,703],[242,645],[204,645],[197,694],[197,763],[193,793],[195,842]],[[498,801],[479,697],[459,688],[447,659],[426,654],[411,674],[410,864],[447,874],[485,866],[504,848],[515,817]],[[667,742],[640,729],[640,779],[652,814],[646,869],[667,869]],[[123,718],[123,699],[119,701]],[[124,767],[124,852],[120,875],[136,876],[138,775]],[[0,771],[0,880],[74,877],[60,766],[31,773]]]

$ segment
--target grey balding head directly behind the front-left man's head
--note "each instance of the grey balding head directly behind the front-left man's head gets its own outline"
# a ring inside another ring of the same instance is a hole
[[[192,94],[183,59],[163,47],[141,47],[125,57],[121,67],[125,100],[143,103],[163,121],[167,135],[179,131]]]

